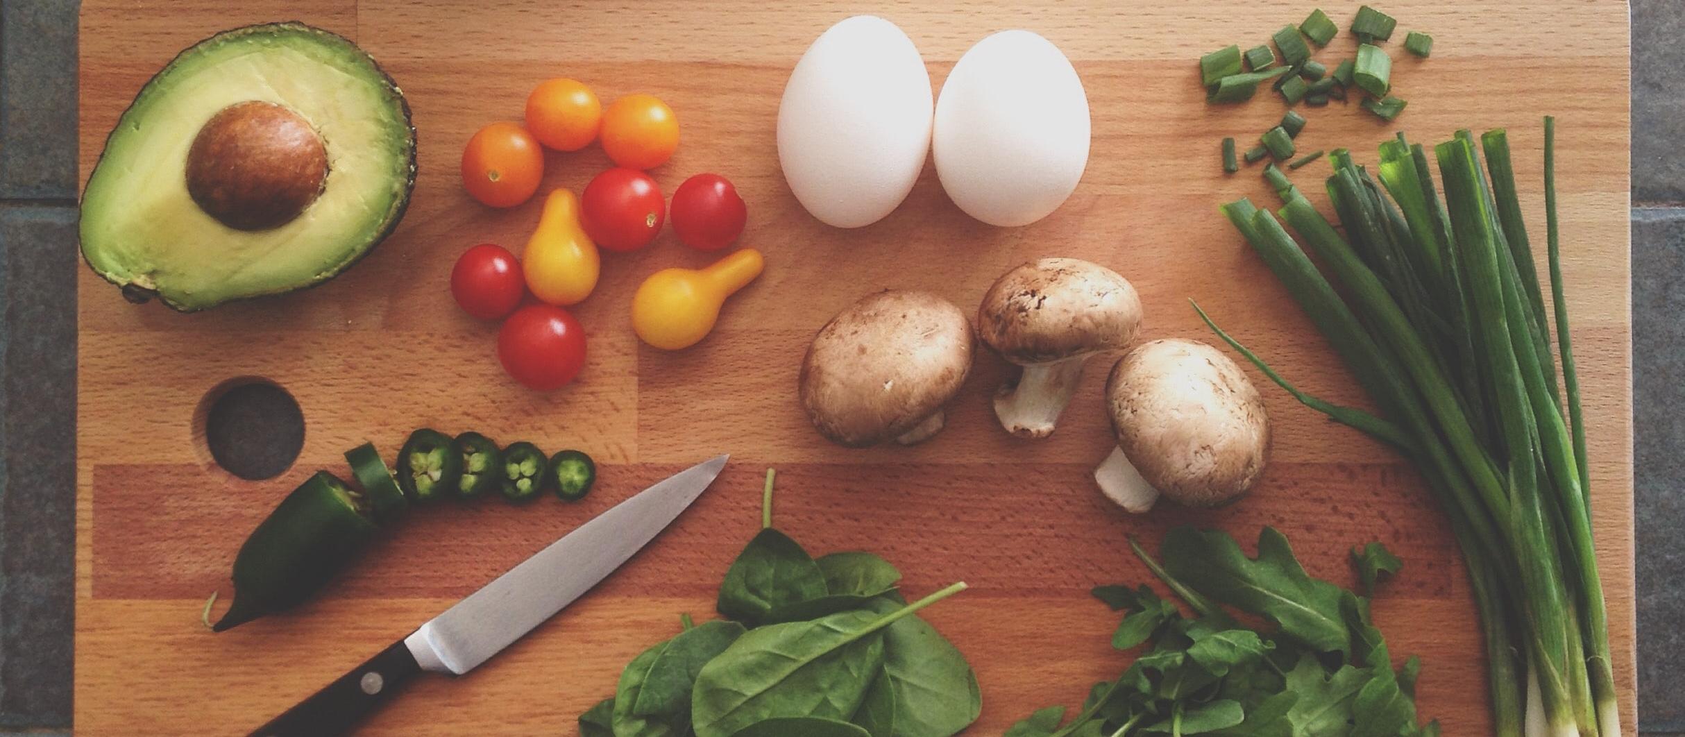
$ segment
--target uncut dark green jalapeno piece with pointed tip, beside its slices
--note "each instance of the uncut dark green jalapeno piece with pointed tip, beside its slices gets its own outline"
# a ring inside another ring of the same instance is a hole
[[[290,609],[329,582],[374,536],[364,501],[320,471],[286,494],[234,557],[234,604],[212,627],[221,632]]]

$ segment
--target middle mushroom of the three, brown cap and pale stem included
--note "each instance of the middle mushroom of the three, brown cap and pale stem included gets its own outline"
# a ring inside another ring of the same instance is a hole
[[[1001,427],[1019,437],[1051,435],[1089,356],[1121,349],[1139,331],[1141,297],[1110,268],[1043,258],[1001,275],[977,307],[982,342],[1023,366],[994,398]]]

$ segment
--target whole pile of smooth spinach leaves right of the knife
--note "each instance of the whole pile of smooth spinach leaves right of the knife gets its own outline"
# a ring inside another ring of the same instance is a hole
[[[716,607],[645,649],[615,695],[580,715],[581,737],[949,737],[982,697],[966,656],[907,604],[901,572],[873,553],[812,558],[772,526],[726,570]]]

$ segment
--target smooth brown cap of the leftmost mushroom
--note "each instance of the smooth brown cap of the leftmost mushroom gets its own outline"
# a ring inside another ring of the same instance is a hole
[[[802,359],[802,408],[842,445],[875,445],[927,420],[971,373],[971,324],[928,292],[878,292],[814,336]]]

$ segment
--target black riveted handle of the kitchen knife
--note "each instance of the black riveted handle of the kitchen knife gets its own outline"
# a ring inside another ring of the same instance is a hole
[[[404,641],[393,643],[350,673],[339,676],[286,713],[258,727],[251,737],[318,737],[349,734],[357,722],[393,700],[421,666]]]

